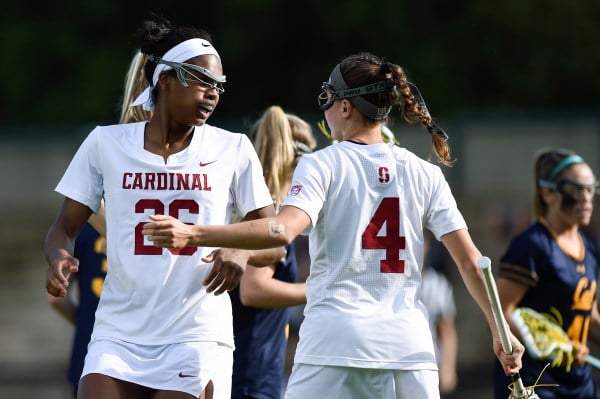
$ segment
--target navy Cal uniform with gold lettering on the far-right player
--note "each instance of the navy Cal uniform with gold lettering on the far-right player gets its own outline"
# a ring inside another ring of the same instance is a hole
[[[598,254],[581,231],[580,236],[584,251],[575,259],[560,248],[543,220],[536,222],[512,240],[501,258],[499,275],[529,287],[518,307],[552,315],[571,341],[585,344],[596,298]],[[548,363],[533,359],[526,351],[520,371],[525,386],[533,385]],[[495,373],[495,397],[508,398],[510,379],[504,377],[499,363]],[[587,364],[583,367],[573,364],[569,372],[565,367],[548,367],[539,384],[560,384],[536,387],[536,394],[544,399],[598,397],[592,369]]]

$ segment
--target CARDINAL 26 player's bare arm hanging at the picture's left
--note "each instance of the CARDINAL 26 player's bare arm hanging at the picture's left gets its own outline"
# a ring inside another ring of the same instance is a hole
[[[65,198],[54,224],[46,235],[44,253],[50,265],[46,275],[46,291],[64,297],[69,287],[69,274],[76,272],[79,261],[73,257],[75,240],[92,211],[87,206]]]

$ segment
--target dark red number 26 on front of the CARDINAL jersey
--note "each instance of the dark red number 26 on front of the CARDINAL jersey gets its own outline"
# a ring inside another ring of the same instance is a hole
[[[146,210],[153,210],[155,215],[165,214],[165,205],[157,199],[142,199],[135,204],[135,213],[145,213]],[[169,204],[169,216],[179,218],[180,211],[188,211],[197,215],[200,212],[200,206],[194,200],[174,200]],[[142,229],[148,222],[140,222],[135,226],[135,255],[162,255],[163,248],[154,245],[144,244],[144,235]],[[192,224],[192,223],[186,223]],[[192,255],[198,250],[197,247],[185,247],[182,249],[169,248],[173,255]]]

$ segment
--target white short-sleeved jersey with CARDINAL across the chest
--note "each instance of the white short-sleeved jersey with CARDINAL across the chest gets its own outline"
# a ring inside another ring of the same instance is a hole
[[[163,157],[144,150],[145,122],[95,128],[56,191],[94,212],[106,201],[108,273],[93,338],[140,345],[217,341],[233,346],[229,295],[207,294],[214,248],[153,246],[149,215],[185,223],[229,223],[272,204],[250,140],[210,125],[196,127],[188,148]]]

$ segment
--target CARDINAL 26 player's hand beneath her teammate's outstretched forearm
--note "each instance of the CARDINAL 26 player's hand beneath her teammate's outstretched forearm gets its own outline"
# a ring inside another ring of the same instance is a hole
[[[204,279],[206,292],[214,291],[215,295],[220,295],[231,291],[240,282],[248,263],[248,251],[220,248],[202,258],[202,261],[213,263],[212,269]]]

